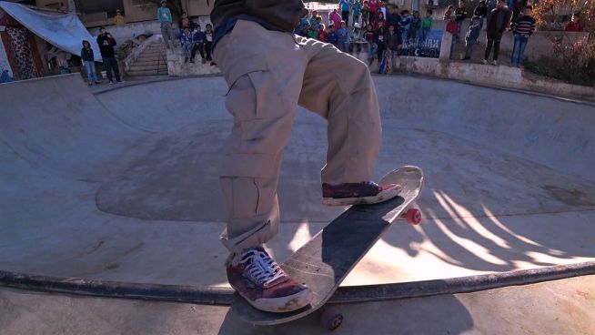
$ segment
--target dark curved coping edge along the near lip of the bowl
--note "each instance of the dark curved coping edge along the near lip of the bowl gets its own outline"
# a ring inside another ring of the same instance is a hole
[[[328,302],[356,303],[468,293],[588,275],[595,275],[595,261],[452,279],[341,287]],[[86,297],[170,301],[208,305],[230,305],[234,295],[234,290],[229,288],[61,278],[2,270],[0,270],[0,287],[26,289],[45,293],[73,294]]]

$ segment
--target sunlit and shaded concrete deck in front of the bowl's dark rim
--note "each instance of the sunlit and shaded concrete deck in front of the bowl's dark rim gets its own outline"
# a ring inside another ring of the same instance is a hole
[[[336,305],[335,334],[582,334],[595,330],[595,278],[475,293]],[[6,334],[328,334],[318,313],[271,327],[236,320],[227,306],[97,299],[0,289]]]

